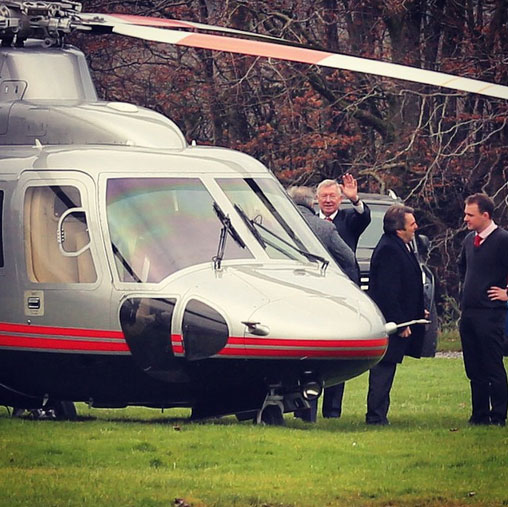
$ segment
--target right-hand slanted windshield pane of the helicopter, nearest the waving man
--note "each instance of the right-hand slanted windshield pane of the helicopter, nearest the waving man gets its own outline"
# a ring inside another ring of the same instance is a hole
[[[295,213],[277,182],[265,178],[219,178],[217,183],[272,259],[307,262],[309,252],[328,258],[323,246]]]

